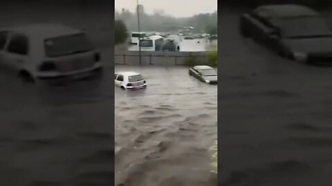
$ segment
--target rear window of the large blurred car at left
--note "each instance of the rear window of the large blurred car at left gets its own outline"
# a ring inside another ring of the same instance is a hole
[[[94,49],[84,33],[45,39],[44,45],[48,57],[77,54]]]

